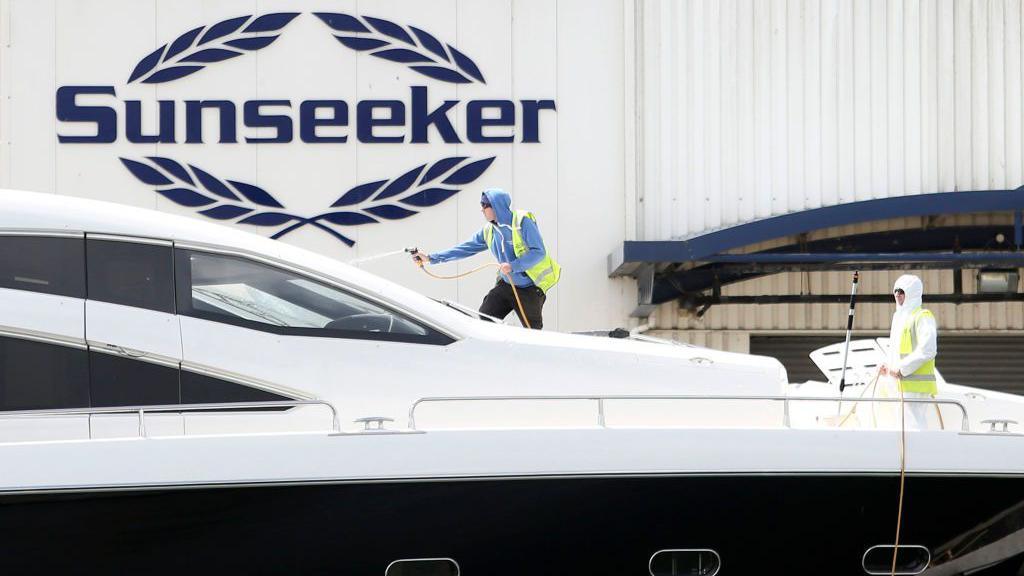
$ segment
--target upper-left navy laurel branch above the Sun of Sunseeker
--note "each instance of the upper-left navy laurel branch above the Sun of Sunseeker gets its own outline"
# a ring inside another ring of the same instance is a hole
[[[170,82],[195,74],[208,64],[265,48],[281,36],[265,34],[280,31],[297,15],[299,12],[276,12],[255,18],[253,15],[239,16],[210,27],[194,28],[139,60],[128,83],[140,78],[143,84]]]

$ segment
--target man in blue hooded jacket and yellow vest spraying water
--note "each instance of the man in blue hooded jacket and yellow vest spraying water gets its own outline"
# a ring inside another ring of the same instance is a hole
[[[547,292],[558,282],[561,268],[544,247],[537,216],[526,210],[512,210],[512,197],[500,189],[483,191],[480,211],[486,223],[473,238],[441,252],[415,252],[413,259],[420,264],[436,264],[466,258],[489,248],[501,263],[501,270],[495,287],[480,304],[480,313],[504,319],[515,311],[523,326],[540,330],[544,327],[541,313]],[[525,320],[516,304],[513,284]]]

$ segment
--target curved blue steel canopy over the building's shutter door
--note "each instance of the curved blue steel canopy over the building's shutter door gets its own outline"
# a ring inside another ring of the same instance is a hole
[[[788,270],[845,270],[853,268],[849,265],[853,262],[864,268],[903,268],[904,264],[945,269],[1018,268],[1024,266],[1022,210],[1024,187],[865,200],[782,214],[685,240],[627,241],[621,249],[609,254],[608,273],[614,277],[638,276],[644,270],[649,273],[651,268],[664,271],[655,275],[648,301],[641,301],[660,303],[674,296],[764,274]],[[1013,212],[1014,225],[890,231],[750,254],[724,253],[840,225],[976,212]],[[1002,245],[991,242],[996,234],[1006,236]]]

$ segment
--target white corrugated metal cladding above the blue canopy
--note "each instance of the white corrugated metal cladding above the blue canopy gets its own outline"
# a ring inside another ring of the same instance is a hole
[[[639,240],[1022,183],[1020,0],[639,6]]]

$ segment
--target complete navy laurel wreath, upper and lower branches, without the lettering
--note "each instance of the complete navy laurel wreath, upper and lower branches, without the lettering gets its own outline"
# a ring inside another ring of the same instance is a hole
[[[451,44],[410,26],[372,16],[314,12],[335,31],[343,45],[359,52],[409,67],[443,82],[486,83],[476,64]],[[128,82],[170,82],[195,74],[207,65],[223,61],[269,46],[299,12],[228,18],[199,27],[143,57]],[[268,34],[276,33],[276,34]],[[330,210],[313,216],[293,214],[267,191],[246,182],[221,179],[191,164],[148,156],[144,160],[121,158],[133,176],[168,200],[216,220],[240,224],[285,227],[278,239],[305,225],[315,227],[348,246],[355,241],[336,228],[408,218],[417,208],[440,204],[460,192],[490,166],[495,157],[469,161],[465,156],[423,164],[398,177],[356,186],[336,200]],[[286,225],[287,224],[287,225]]]

